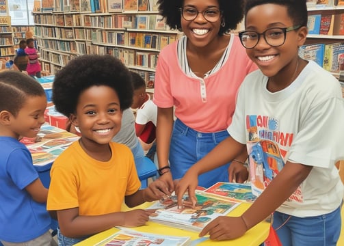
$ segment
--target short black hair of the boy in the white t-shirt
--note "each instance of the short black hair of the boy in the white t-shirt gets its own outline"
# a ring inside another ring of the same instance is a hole
[[[245,15],[257,5],[266,3],[278,4],[287,7],[289,17],[293,25],[307,26],[307,4],[306,0],[246,0]]]

